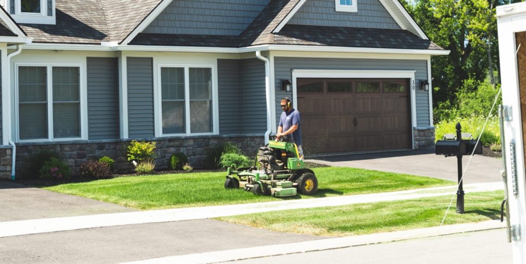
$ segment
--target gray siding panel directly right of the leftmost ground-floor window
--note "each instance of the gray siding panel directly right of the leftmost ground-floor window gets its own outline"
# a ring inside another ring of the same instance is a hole
[[[119,138],[117,58],[87,58],[88,138]]]

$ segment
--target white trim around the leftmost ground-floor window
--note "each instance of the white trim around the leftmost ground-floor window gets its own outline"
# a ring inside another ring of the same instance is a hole
[[[19,67],[46,67],[47,78],[46,78],[46,90],[47,90],[47,139],[32,139],[32,140],[21,140],[20,129],[18,120],[18,68]],[[80,100],[80,137],[79,138],[53,138],[53,67],[77,67],[79,73],[79,100]],[[59,141],[78,141],[87,140],[88,135],[85,131],[88,127],[87,119],[87,91],[84,86],[85,70],[82,64],[38,64],[38,63],[15,63],[15,127],[16,127],[16,142],[59,142]]]

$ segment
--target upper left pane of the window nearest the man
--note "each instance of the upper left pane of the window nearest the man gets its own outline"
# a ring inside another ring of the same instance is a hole
[[[185,69],[161,68],[162,100],[185,100]]]

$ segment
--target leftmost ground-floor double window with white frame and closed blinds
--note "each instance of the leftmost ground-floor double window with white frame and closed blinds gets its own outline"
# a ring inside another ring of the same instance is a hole
[[[17,141],[81,140],[80,65],[16,65]]]

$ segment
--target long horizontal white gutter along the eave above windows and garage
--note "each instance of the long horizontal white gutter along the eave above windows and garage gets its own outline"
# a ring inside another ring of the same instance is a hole
[[[258,45],[242,48],[221,47],[183,47],[183,46],[112,46],[106,43],[101,45],[89,44],[29,44],[24,49],[52,49],[52,50],[79,50],[79,51],[157,51],[157,52],[206,52],[206,53],[231,53],[239,54],[257,50],[282,50],[282,51],[312,51],[312,52],[351,52],[374,54],[411,54],[411,55],[448,55],[449,50],[442,49],[380,49],[380,48],[353,48],[330,46],[298,46],[298,45]]]

